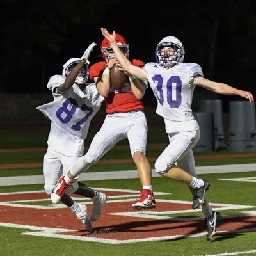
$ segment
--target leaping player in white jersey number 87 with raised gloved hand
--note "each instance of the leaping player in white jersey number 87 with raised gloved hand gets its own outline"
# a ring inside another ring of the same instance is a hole
[[[48,137],[48,148],[44,156],[43,173],[45,192],[49,195],[55,188],[58,179],[65,175],[70,166],[84,154],[84,139],[87,136],[90,122],[99,111],[104,97],[100,96],[95,84],[88,84],[88,58],[95,43],[84,52],[82,58],[71,58],[63,66],[62,75],[52,76],[47,84],[52,90],[54,101],[37,107],[51,120],[51,131]],[[94,191],[85,184],[72,181],[69,193],[92,198],[93,208],[90,217],[85,204],[77,204],[68,194],[61,202],[74,212],[79,220],[92,232],[92,222],[100,217],[106,202],[106,195]]]

